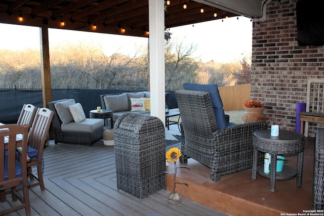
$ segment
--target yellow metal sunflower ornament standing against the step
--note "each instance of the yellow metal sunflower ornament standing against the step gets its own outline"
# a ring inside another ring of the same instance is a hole
[[[188,184],[185,182],[176,182],[177,167],[189,169],[186,166],[177,166],[176,161],[179,161],[180,156],[181,156],[181,151],[178,148],[170,148],[169,151],[167,151],[166,153],[167,160],[171,163],[174,163],[174,173],[171,174],[169,172],[166,172],[167,174],[173,175],[173,191],[170,193],[169,200],[168,200],[168,203],[173,205],[178,205],[182,202],[179,193],[176,191],[176,185],[182,184],[188,187]]]

